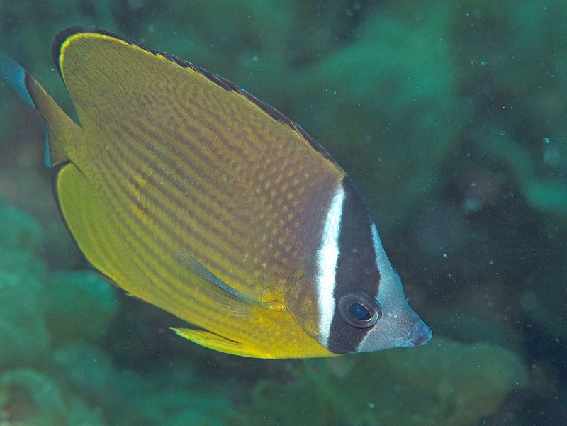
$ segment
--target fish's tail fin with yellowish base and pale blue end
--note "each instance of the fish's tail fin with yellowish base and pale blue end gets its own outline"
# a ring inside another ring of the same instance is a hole
[[[16,93],[37,109],[47,125],[45,165],[55,166],[69,159],[69,147],[82,138],[82,129],[60,108],[43,87],[17,62],[0,54],[0,76]],[[73,142],[73,143],[72,143]]]

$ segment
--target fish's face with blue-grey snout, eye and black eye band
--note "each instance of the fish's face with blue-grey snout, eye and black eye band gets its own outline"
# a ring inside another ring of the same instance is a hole
[[[371,240],[366,257],[363,250],[348,254],[352,262],[341,262],[339,256],[330,331],[320,343],[335,354],[423,346],[432,330],[410,308],[376,225],[366,229]]]

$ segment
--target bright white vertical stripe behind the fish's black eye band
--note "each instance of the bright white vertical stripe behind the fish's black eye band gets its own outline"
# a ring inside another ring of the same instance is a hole
[[[332,198],[323,232],[321,245],[317,252],[317,301],[319,307],[319,333],[322,344],[326,346],[329,340],[331,323],[335,315],[335,275],[339,259],[339,233],[341,228],[342,204],[344,189],[339,186]]]

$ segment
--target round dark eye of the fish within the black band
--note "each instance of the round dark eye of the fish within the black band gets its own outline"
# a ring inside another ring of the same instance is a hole
[[[362,290],[342,295],[338,309],[344,322],[357,328],[372,327],[382,316],[380,303]]]

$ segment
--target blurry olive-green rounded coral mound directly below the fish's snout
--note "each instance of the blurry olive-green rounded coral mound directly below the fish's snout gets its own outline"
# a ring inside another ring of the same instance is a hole
[[[440,337],[419,351],[305,361],[291,374],[292,384],[259,383],[240,424],[467,426],[527,386],[517,355]]]

